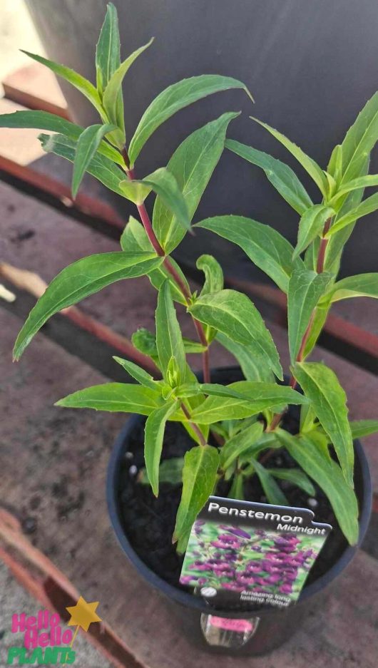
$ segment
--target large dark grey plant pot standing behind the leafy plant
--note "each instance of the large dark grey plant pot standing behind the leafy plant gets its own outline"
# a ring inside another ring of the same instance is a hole
[[[155,36],[125,82],[126,124],[131,135],[150,101],[180,78],[222,73],[244,81],[241,91],[211,96],[175,115],[145,145],[138,160],[144,175],[165,165],[175,147],[199,125],[223,111],[241,110],[229,135],[267,150],[295,166],[320,201],[316,187],[251,113],[282,130],[323,168],[358,111],[378,88],[378,4],[376,0],[114,0],[126,56]],[[94,51],[106,0],[28,0],[49,55],[94,81]],[[62,84],[81,123],[96,120],[86,101]],[[374,155],[370,171],[378,170]],[[128,204],[117,202],[125,212]],[[265,176],[226,152],[195,220],[222,213],[254,217],[295,240],[298,217]],[[378,215],[357,224],[344,254],[342,273],[377,270]],[[238,277],[263,278],[245,255],[206,232],[180,245],[178,257],[193,262],[214,252]]]

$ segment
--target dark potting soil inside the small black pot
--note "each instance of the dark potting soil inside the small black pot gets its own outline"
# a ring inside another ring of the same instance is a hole
[[[215,382],[223,384],[240,379],[240,371],[236,369],[233,369],[232,373],[229,369],[220,369],[215,376]],[[133,429],[121,464],[118,498],[123,528],[134,550],[151,570],[171,585],[188,590],[188,587],[179,583],[183,555],[178,555],[175,545],[172,544],[181,486],[160,483],[159,496],[155,498],[150,485],[138,483],[138,472],[144,466],[144,422],[144,420],[141,421]],[[299,408],[292,406],[290,407],[290,413],[287,413],[282,421],[282,426],[291,433],[297,433],[298,424]],[[192,447],[192,439],[179,423],[170,422],[167,424],[163,443],[163,459],[182,457]],[[297,464],[289,453],[282,450],[272,455],[269,466],[272,468],[291,468],[297,467]],[[315,521],[325,522],[333,527],[322,548],[320,557],[310,570],[305,585],[307,586],[330,569],[347,548],[347,541],[339,530],[327,497],[317,485],[315,485],[315,497],[309,498],[308,494],[287,481],[277,480],[277,483],[285,492],[290,505],[297,508],[310,508],[315,513]],[[229,490],[230,483],[222,481],[218,485],[216,494],[226,497]],[[267,503],[267,498],[257,476],[253,476],[245,482],[244,493],[245,500]]]

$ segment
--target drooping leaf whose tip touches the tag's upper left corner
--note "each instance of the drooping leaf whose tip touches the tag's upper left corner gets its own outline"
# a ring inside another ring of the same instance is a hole
[[[213,492],[218,462],[218,450],[211,446],[196,446],[185,454],[183,495],[173,534],[173,540],[178,540],[178,553],[185,551],[194,520]]]

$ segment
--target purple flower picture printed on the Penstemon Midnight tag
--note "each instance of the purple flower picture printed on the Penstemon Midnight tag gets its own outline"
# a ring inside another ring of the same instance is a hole
[[[196,520],[180,582],[295,602],[323,543],[320,536]]]

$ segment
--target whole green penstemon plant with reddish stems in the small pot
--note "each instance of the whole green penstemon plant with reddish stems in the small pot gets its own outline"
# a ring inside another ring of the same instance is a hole
[[[327,170],[280,132],[258,121],[315,181],[320,203],[312,202],[288,165],[226,139],[228,125],[238,115],[234,112],[223,113],[195,130],[178,146],[166,167],[137,178],[138,155],[150,135],[176,111],[230,88],[240,88],[250,96],[243,83],[228,76],[184,79],[150,103],[133,137],[126,141],[123,78],[150,43],[121,62],[116,8],[109,4],[96,49],[96,86],[69,68],[29,53],[78,88],[98,111],[100,122],[83,129],[42,111],[17,111],[0,117],[3,127],[53,133],[41,134],[40,140],[46,152],[73,163],[74,197],[88,172],[133,202],[139,217],[128,220],[120,252],[84,257],[53,279],[19,333],[14,358],[19,359],[34,334],[56,312],[113,282],[148,275],[158,291],[155,333],[140,329],[133,335],[133,344],[150,356],[158,379],[133,362],[116,357],[134,382],[89,387],[66,396],[57,405],[147,416],[144,474],[153,493],[158,495],[159,476],[183,483],[173,536],[179,552],[185,550],[196,515],[218,483],[231,481],[230,496],[242,499],[243,483],[252,476],[259,478],[267,500],[278,504],[287,503],[287,499],[277,480],[313,494],[312,478],[330,500],[347,540],[354,544],[359,511],[353,488],[353,438],[378,431],[378,421],[349,422],[346,396],[334,372],[325,364],[306,359],[333,302],[359,295],[378,297],[378,274],[337,281],[342,250],[355,222],[378,209],[378,193],[362,200],[364,187],[378,185],[378,175],[367,174],[369,153],[378,138],[378,93],[342,144],[332,151]],[[197,267],[205,280],[199,292],[192,292],[171,257],[191,231],[195,210],[225,147],[264,170],[300,216],[295,248],[268,225],[238,215],[208,218],[195,225],[239,245],[287,294],[292,362],[289,386],[277,382],[283,379],[280,359],[260,313],[245,294],[224,289],[223,272],[215,258],[198,258]],[[152,220],[145,207],[150,192],[156,196]],[[181,335],[175,302],[186,307],[198,341]],[[225,386],[211,382],[209,349],[214,340],[235,356],[244,381]],[[202,355],[203,382],[188,366],[188,353]],[[297,384],[303,394],[295,389]],[[290,404],[300,406],[300,427],[295,435],[280,426]],[[167,421],[181,423],[193,438],[193,447],[185,458],[160,464]],[[297,468],[269,466],[270,456],[278,448],[285,448]]]

